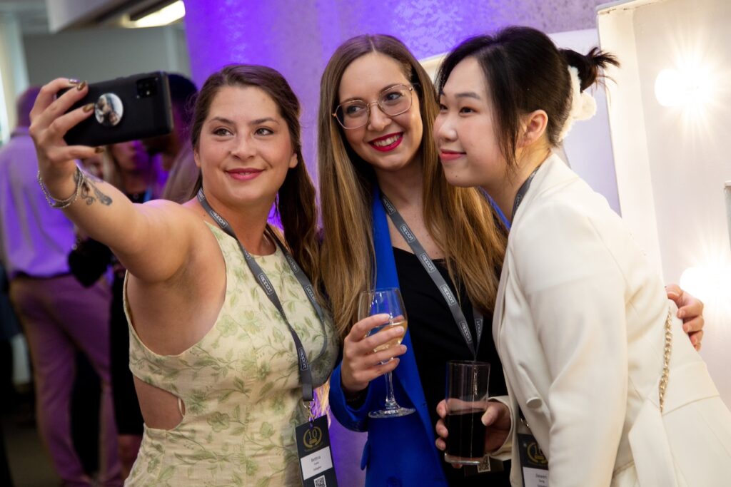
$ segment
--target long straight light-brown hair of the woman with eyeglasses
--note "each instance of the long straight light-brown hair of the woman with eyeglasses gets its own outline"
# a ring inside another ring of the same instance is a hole
[[[318,153],[322,226],[325,238],[319,284],[327,289],[336,328],[344,337],[357,321],[357,296],[374,285],[374,242],[371,217],[376,176],[344,139],[332,113],[340,103],[338,89],[346,68],[368,53],[382,53],[402,66],[414,85],[424,126],[419,153],[423,161],[423,218],[444,252],[450,277],[462,283],[475,307],[491,312],[505,253],[504,231],[491,204],[476,188],[447,183],[433,138],[439,112],[429,75],[395,37],[362,35],[344,42],[330,58],[320,83]]]

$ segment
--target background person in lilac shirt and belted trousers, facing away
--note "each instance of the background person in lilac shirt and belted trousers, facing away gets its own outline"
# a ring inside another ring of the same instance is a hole
[[[38,187],[36,151],[29,136],[29,112],[38,93],[39,88],[29,88],[20,96],[18,126],[0,150],[0,236],[10,299],[28,341],[37,425],[54,469],[64,485],[91,485],[72,444],[69,419],[75,355],[81,350],[102,383],[99,480],[117,486],[121,479],[109,383],[110,291],[101,282],[85,288],[69,273],[74,226],[48,207]]]

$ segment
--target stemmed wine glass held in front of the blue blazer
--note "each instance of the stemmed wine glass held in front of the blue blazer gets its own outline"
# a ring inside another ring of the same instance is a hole
[[[408,326],[404,301],[401,299],[401,291],[398,291],[398,288],[376,289],[374,291],[364,291],[360,293],[358,298],[358,320],[381,313],[385,313],[389,317],[386,323],[371,329],[368,332],[369,337],[381,330],[391,329],[393,326],[401,326],[404,329],[403,334],[376,347],[373,350],[374,353],[386,350],[395,345],[401,345],[401,340],[406,335],[406,326]],[[369,418],[398,418],[399,416],[406,416],[416,412],[413,408],[402,407],[396,402],[393,396],[393,377],[391,376],[391,372],[386,373],[386,391],[386,401],[383,409],[371,411],[368,413]]]

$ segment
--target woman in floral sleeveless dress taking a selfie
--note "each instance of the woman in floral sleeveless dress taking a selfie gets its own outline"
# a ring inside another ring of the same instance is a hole
[[[77,168],[94,147],[64,142],[91,115],[65,113],[86,89],[64,78],[45,85],[31,135],[49,203],[128,271],[129,365],[145,432],[126,484],[299,486],[294,425],[307,419],[308,389],[330,374],[336,337],[306,292],[317,218],[295,94],[263,66],[212,74],[192,127],[197,198],[140,205]],[[275,201],[284,242],[267,224]],[[311,377],[300,374],[303,358]]]

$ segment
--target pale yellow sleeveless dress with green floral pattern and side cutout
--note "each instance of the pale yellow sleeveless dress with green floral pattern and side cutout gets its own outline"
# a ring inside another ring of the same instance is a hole
[[[132,373],[180,397],[185,415],[170,430],[145,426],[125,485],[300,486],[294,432],[306,421],[306,410],[292,336],[235,240],[209,227],[227,278],[226,298],[211,331],[181,355],[159,356],[129,326]],[[325,353],[314,361],[322,349],[322,327],[284,254],[277,250],[256,259],[305,346],[315,385],[324,383],[338,347],[332,323],[325,323]]]

